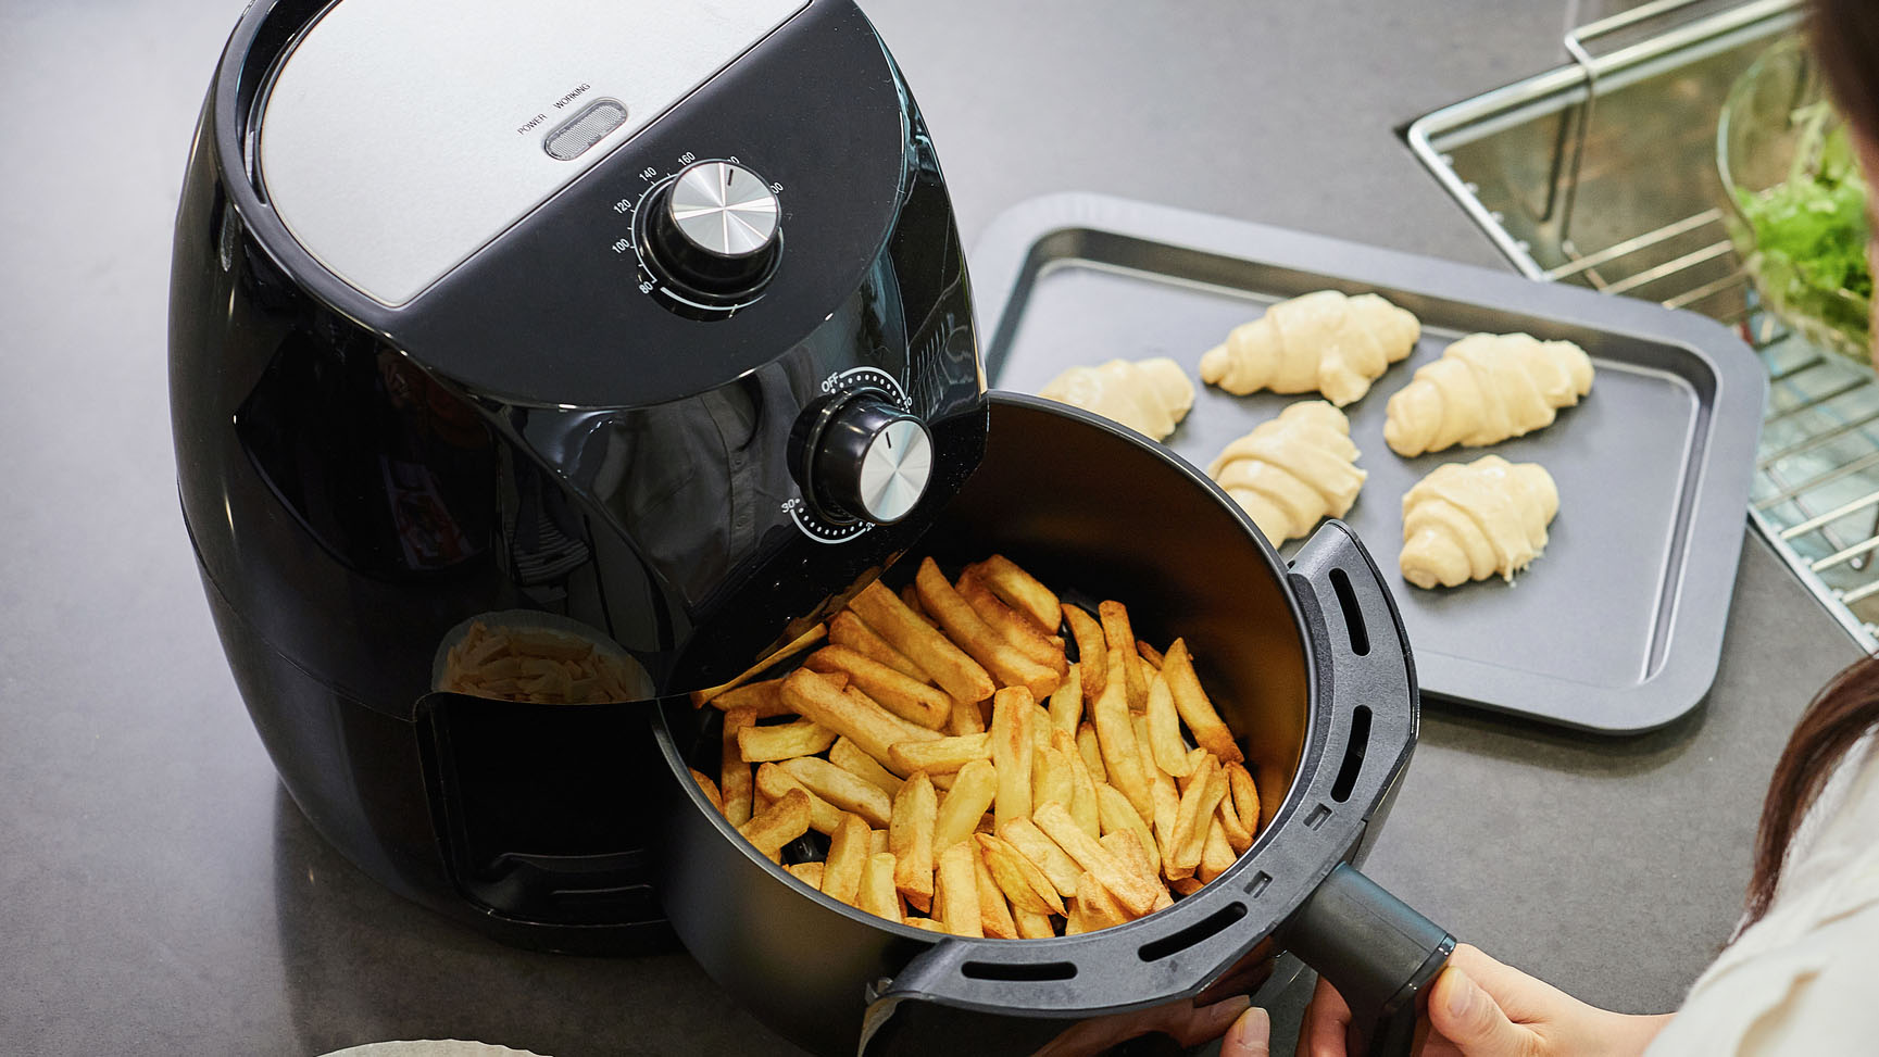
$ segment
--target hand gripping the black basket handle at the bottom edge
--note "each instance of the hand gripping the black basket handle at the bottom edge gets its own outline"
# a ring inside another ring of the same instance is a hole
[[[1464,942],[1430,989],[1430,1033],[1421,1055],[1635,1057],[1669,1019],[1669,1014],[1627,1016],[1588,1006]],[[1298,1029],[1300,1057],[1347,1057],[1343,1033],[1349,1023],[1349,1006],[1319,980]]]

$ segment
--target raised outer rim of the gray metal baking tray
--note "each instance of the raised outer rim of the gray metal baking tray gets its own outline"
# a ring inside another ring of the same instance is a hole
[[[1593,715],[1592,721],[1575,721],[1543,708],[1471,697],[1467,687],[1479,682],[1488,665],[1430,653],[1417,657],[1417,666],[1424,693],[1432,697],[1595,734],[1644,734],[1674,723],[1704,700],[1721,663],[1723,631],[1734,595],[1742,537],[1747,529],[1761,409],[1768,392],[1761,362],[1727,327],[1646,300],[1541,283],[1437,257],[1112,195],[1065,191],[1011,207],[986,225],[968,255],[973,287],[979,291],[981,334],[990,334],[981,349],[988,375],[994,374],[996,357],[1011,338],[1003,332],[1011,325],[1005,314],[1020,293],[1020,280],[1030,272],[1033,246],[1052,233],[1071,229],[1097,229],[1353,282],[1394,285],[1428,297],[1494,304],[1558,323],[1623,329],[1640,338],[1674,344],[1700,359],[1716,375],[1716,400],[1697,471],[1685,556],[1676,571],[1670,642],[1659,668],[1629,687],[1586,687],[1533,674],[1530,700],[1543,706],[1571,698],[1578,713]],[[1753,422],[1753,430],[1719,430],[1719,422]],[[1734,516],[1716,516],[1717,509],[1734,511]],[[1695,556],[1710,558],[1699,563]]]

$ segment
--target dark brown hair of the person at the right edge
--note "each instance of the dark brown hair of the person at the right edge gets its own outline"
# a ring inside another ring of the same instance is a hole
[[[1834,101],[1866,145],[1879,145],[1879,4],[1811,0],[1809,38]],[[1866,152],[1862,152],[1866,154]],[[1747,927],[1768,912],[1787,845],[1847,749],[1879,725],[1879,659],[1849,665],[1802,713],[1768,781],[1755,834]]]

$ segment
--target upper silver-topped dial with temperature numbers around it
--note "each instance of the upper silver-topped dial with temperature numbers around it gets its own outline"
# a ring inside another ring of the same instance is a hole
[[[697,161],[637,210],[644,263],[701,302],[748,302],[776,272],[780,212],[763,176],[735,161]]]

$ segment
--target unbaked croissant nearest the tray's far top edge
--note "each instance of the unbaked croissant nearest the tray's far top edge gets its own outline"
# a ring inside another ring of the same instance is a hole
[[[1236,396],[1317,391],[1343,407],[1370,392],[1421,336],[1415,315],[1374,293],[1321,289],[1235,327],[1223,345],[1201,357],[1201,381]]]

